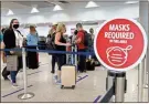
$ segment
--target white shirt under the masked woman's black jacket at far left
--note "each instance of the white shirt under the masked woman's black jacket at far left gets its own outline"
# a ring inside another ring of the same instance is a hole
[[[17,30],[13,30],[13,31],[15,34],[15,45],[19,48],[22,48],[23,37]]]

